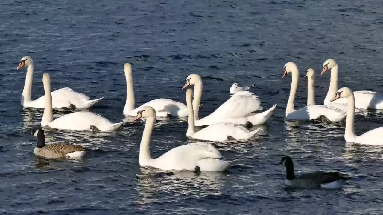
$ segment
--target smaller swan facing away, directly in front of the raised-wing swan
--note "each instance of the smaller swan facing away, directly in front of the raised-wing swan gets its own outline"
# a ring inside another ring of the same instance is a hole
[[[194,127],[194,113],[193,113],[193,89],[188,88],[186,90],[186,104],[188,107],[188,130],[186,136],[209,141],[225,141],[228,139],[240,140],[253,138],[262,128],[258,128],[252,132],[249,132],[243,125],[237,125],[229,122],[221,122],[213,125],[209,125],[198,132],[195,132]]]

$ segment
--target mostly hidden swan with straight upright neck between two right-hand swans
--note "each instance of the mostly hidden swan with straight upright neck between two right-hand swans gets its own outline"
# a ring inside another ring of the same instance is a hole
[[[307,106],[315,105],[315,72],[312,68],[307,70],[306,76],[307,79]],[[336,108],[341,111],[347,111],[347,104],[345,103],[329,103],[326,105],[329,108]],[[362,112],[361,109],[355,108],[355,112]]]

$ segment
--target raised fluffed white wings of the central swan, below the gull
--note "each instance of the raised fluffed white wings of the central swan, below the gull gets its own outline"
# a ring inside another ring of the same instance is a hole
[[[235,93],[230,99],[219,106],[213,113],[201,120],[219,118],[240,118],[247,114],[262,110],[260,99],[247,91]]]

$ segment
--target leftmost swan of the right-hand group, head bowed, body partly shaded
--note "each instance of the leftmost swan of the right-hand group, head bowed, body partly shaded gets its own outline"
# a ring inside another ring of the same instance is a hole
[[[299,71],[296,67],[296,64],[293,62],[288,62],[283,68],[283,77],[291,72],[291,89],[290,96],[288,98],[286,106],[286,118],[287,119],[297,119],[297,120],[308,120],[308,119],[318,119],[321,116],[325,116],[328,120],[336,122],[344,119],[346,117],[346,112],[337,110],[335,108],[329,108],[323,105],[309,105],[301,109],[294,109],[294,100],[296,89],[298,87],[299,80]],[[283,78],[282,77],[282,78]]]

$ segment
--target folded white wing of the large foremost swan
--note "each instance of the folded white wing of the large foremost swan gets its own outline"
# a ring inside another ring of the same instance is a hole
[[[221,158],[221,153],[208,143],[189,143],[172,148],[164,155],[152,160],[150,166],[164,170],[187,169],[194,171],[197,161],[203,158]]]

